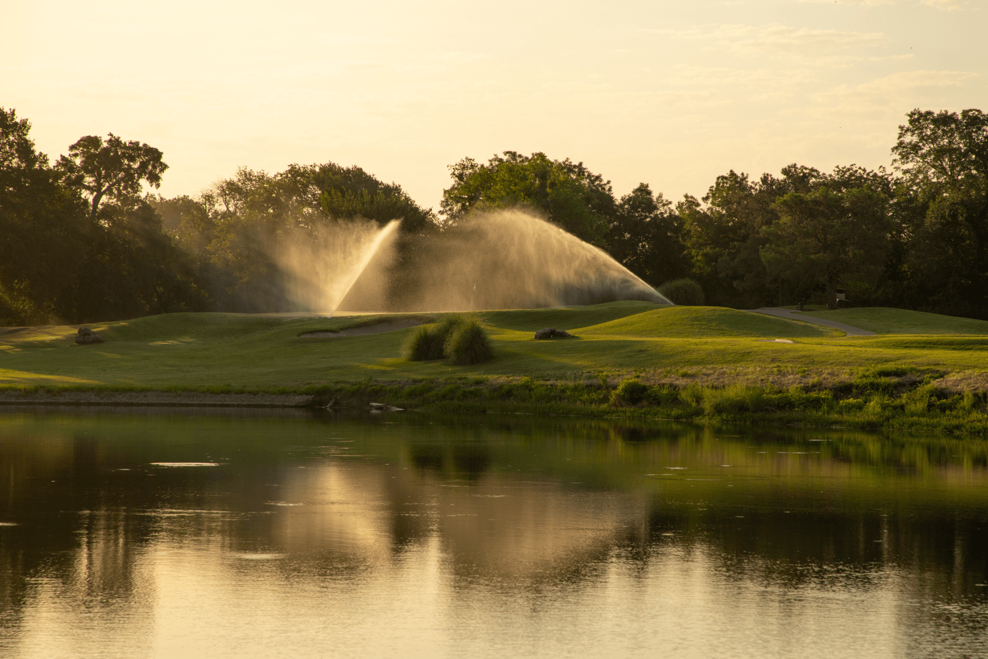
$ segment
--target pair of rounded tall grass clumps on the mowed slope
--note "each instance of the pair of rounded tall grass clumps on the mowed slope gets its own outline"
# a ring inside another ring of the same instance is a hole
[[[493,359],[494,349],[475,318],[451,313],[440,323],[417,327],[402,354],[409,362],[449,358],[456,366],[468,366]]]

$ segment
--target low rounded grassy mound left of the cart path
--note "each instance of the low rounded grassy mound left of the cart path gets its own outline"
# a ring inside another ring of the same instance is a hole
[[[581,336],[800,338],[842,336],[843,332],[750,311],[719,306],[669,306],[586,327]]]

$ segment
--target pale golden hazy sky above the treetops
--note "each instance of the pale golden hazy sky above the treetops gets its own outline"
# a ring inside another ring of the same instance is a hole
[[[505,150],[678,200],[728,170],[889,166],[914,108],[988,111],[988,0],[0,0],[0,107],[52,159],[161,149],[158,192],[359,165],[438,209]]]

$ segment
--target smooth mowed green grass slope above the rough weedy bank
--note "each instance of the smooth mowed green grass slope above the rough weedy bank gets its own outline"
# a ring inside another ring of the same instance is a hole
[[[94,346],[74,345],[76,327],[18,329],[0,334],[0,384],[264,389],[461,375],[557,378],[588,371],[616,376],[676,371],[689,376],[704,369],[812,374],[866,367],[980,371],[988,366],[988,329],[981,337],[849,338],[808,322],[748,311],[627,301],[480,312],[496,357],[472,367],[403,360],[401,345],[411,329],[347,338],[298,336],[384,319],[438,320],[442,315],[328,319],[177,313],[90,325],[108,339]],[[842,322],[864,326],[863,320],[861,315]],[[941,323],[955,320],[964,319]],[[576,337],[534,341],[535,330],[542,327],[565,329]],[[776,338],[794,343],[767,341]]]

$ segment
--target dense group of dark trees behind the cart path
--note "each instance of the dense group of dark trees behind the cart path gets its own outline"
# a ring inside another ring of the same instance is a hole
[[[711,303],[752,308],[795,303],[834,288],[873,286],[892,226],[884,172],[838,167],[825,174],[789,165],[752,182],[718,176],[702,202],[678,205],[695,279]],[[878,267],[875,267],[875,266]]]

